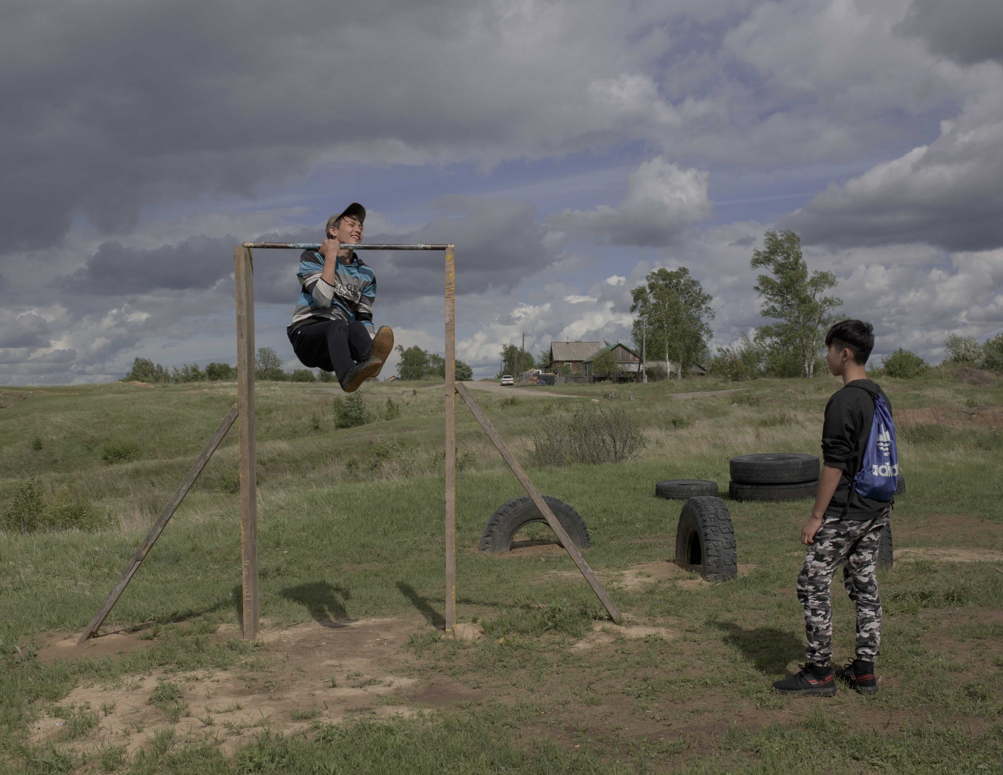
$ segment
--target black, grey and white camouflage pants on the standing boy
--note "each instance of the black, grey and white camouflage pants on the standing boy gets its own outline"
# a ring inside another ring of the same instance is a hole
[[[875,565],[882,528],[891,510],[874,519],[826,516],[815,533],[797,576],[797,600],[804,607],[807,661],[827,665],[832,659],[832,600],[829,586],[843,565],[843,585],[857,605],[857,657],[874,662],[881,647],[881,598]]]

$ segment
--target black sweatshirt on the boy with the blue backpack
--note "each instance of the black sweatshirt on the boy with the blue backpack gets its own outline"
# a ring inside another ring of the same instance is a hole
[[[825,404],[825,422],[821,430],[822,459],[825,465],[843,469],[840,486],[835,488],[835,493],[825,508],[826,516],[839,516],[843,513],[850,483],[861,470],[864,448],[868,444],[871,423],[875,418],[875,395],[885,399],[891,413],[892,402],[888,400],[885,391],[869,379],[856,379],[848,383],[833,393]],[[855,490],[846,518],[873,519],[889,505],[888,501],[866,498]]]

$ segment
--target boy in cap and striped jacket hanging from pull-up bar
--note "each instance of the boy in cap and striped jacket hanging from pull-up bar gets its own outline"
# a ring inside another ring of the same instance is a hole
[[[300,298],[286,329],[300,363],[333,371],[346,393],[378,376],[393,351],[389,326],[373,328],[375,273],[355,251],[341,250],[362,242],[365,220],[366,209],[353,202],[328,219],[320,249],[300,256]]]

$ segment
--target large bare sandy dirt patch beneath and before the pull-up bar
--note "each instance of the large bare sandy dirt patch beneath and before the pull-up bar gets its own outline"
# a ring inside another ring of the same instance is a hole
[[[410,658],[400,647],[408,635],[426,628],[420,619],[367,619],[339,628],[311,623],[266,632],[268,646],[256,656],[253,668],[152,671],[79,685],[60,707],[97,713],[97,727],[69,742],[70,723],[45,714],[35,723],[31,740],[65,742],[77,751],[120,745],[131,754],[148,747],[157,732],[173,728],[178,742],[209,741],[232,753],[265,727],[305,731],[315,722],[337,723],[360,713],[408,716],[423,707],[481,699],[483,693],[448,677],[428,682],[404,675]],[[136,640],[120,635],[97,641],[103,641],[100,648],[107,651],[129,639]],[[54,645],[53,653],[74,653],[68,645],[60,646]],[[177,698],[156,702],[154,692],[161,682],[170,684]]]

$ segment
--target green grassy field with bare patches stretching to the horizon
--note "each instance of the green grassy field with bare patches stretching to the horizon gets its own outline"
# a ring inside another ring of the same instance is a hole
[[[707,478],[726,492],[732,455],[816,451],[834,380],[684,399],[674,395],[736,384],[474,392],[524,461],[542,422],[592,399],[635,415],[648,444],[629,462],[528,466],[588,524],[585,555],[628,617],[621,630],[543,528],[506,557],[475,550],[491,512],[522,493],[457,411],[468,641],[436,630],[441,391],[366,385],[373,422],[339,430],[328,386],[261,384],[262,641],[237,637],[235,428],[109,616],[103,632],[115,634],[79,650],[67,636],[236,387],[3,388],[0,508],[34,477],[49,500],[89,499],[110,524],[0,532],[0,771],[1003,771],[1003,386],[984,382],[882,381],[896,410],[932,411],[900,431],[907,492],[893,514],[896,564],[880,574],[882,691],[832,700],[769,691],[803,659],[793,585],[810,503],[726,500],[742,573],[710,585],[667,561],[681,503],[654,486]],[[833,592],[843,660],[852,608]]]

